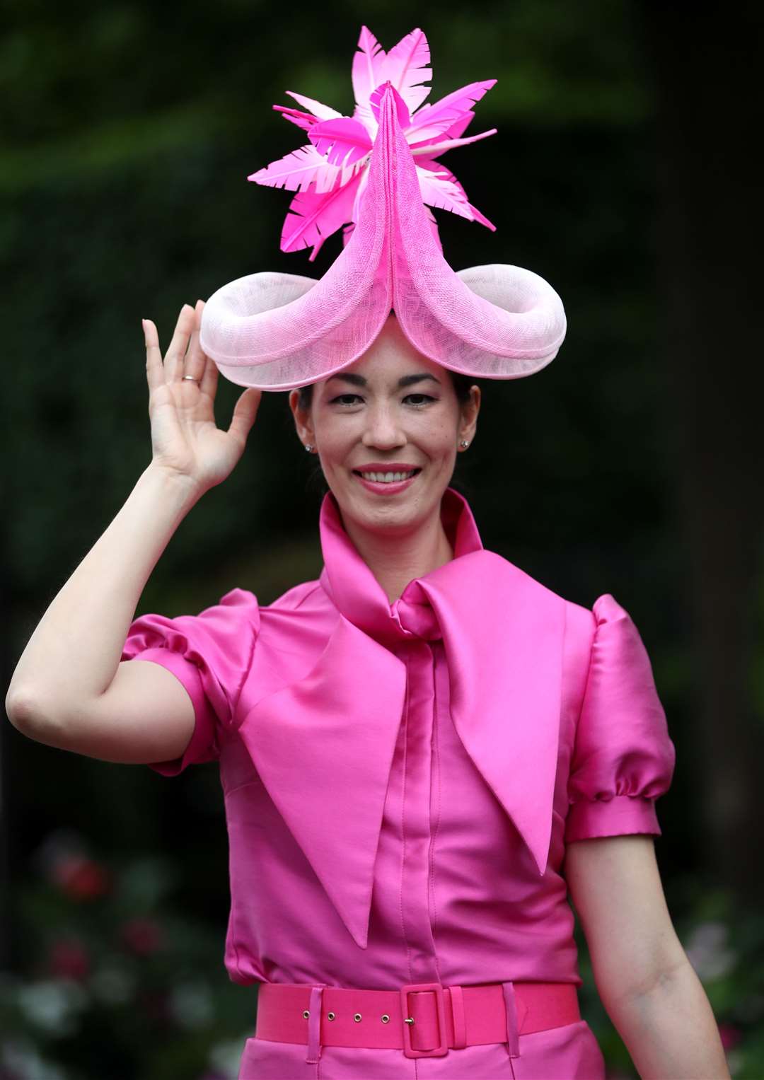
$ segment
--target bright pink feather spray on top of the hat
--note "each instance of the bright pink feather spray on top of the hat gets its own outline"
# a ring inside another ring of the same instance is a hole
[[[468,146],[495,135],[496,129],[463,137],[474,117],[472,107],[495,84],[495,79],[472,82],[434,104],[424,104],[432,78],[430,46],[423,30],[415,29],[386,53],[372,31],[363,26],[351,67],[356,107],[352,117],[291,90],[286,93],[304,110],[274,105],[284,120],[296,124],[310,141],[279,161],[258,170],[249,180],[284,188],[297,194],[281,230],[281,251],[312,247],[313,261],[324,241],[343,230],[347,244],[358,220],[366,187],[374,140],[379,129],[379,103],[389,81],[396,95],[398,122],[414,157],[423,202],[433,237],[438,224],[429,210],[434,206],[458,214],[486,228],[495,226],[477,207],[453,173],[435,159],[446,150]]]

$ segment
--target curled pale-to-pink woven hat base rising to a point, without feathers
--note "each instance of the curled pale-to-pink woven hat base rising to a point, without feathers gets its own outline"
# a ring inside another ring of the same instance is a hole
[[[323,278],[254,273],[207,299],[200,345],[231,382],[285,390],[325,379],[366,352],[391,309],[415,348],[455,372],[522,378],[557,355],[566,321],[552,286],[504,264],[455,272],[389,83],[379,118],[358,224]]]

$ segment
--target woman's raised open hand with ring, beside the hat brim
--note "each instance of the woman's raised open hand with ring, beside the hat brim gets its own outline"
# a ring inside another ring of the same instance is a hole
[[[247,388],[233,408],[228,431],[215,423],[218,372],[199,345],[204,303],[180,309],[175,333],[162,361],[159,335],[145,319],[146,379],[151,419],[151,464],[186,477],[202,491],[222,483],[241,457],[255,422],[263,391]],[[198,381],[184,379],[190,375]]]

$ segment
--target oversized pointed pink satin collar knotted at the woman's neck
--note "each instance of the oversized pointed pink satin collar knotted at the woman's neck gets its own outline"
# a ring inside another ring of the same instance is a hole
[[[321,585],[337,623],[313,669],[250,712],[241,737],[277,809],[356,943],[368,935],[374,864],[403,714],[405,664],[391,648],[443,638],[459,739],[544,874],[558,762],[564,602],[485,551],[466,500],[442,518],[454,558],[392,606],[321,508]]]

